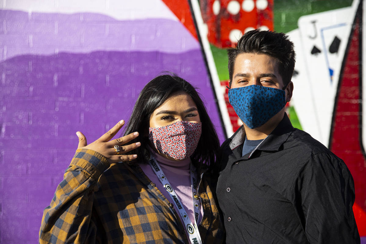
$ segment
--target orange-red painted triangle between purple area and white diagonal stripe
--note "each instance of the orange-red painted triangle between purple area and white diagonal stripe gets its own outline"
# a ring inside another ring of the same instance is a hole
[[[193,17],[189,7],[189,0],[162,0],[165,5],[177,16],[179,21],[188,29],[188,31],[198,40]],[[197,0],[194,0],[197,1]]]

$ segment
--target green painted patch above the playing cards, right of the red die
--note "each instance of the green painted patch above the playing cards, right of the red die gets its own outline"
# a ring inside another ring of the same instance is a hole
[[[274,29],[287,33],[298,28],[300,16],[349,7],[352,0],[274,0]]]

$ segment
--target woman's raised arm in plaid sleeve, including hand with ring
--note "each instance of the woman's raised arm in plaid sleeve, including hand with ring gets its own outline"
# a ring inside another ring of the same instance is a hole
[[[122,128],[118,123],[95,142],[87,145],[78,132],[78,150],[57,186],[51,204],[45,208],[39,233],[40,243],[95,243],[96,223],[92,218],[97,181],[112,162],[135,159],[134,155],[116,155],[114,145],[122,145],[137,137],[135,133],[109,141]],[[138,143],[121,147],[121,153],[135,149]],[[103,235],[102,235],[103,236]]]

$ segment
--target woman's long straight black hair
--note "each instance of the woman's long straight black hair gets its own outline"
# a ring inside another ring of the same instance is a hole
[[[207,164],[212,169],[219,153],[219,139],[205,105],[190,83],[170,72],[165,72],[163,75],[150,80],[137,98],[124,135],[138,131],[139,136],[127,144],[141,142],[141,146],[128,152],[128,154],[137,154],[139,162],[147,163],[147,158],[150,155],[148,149],[150,117],[155,109],[164,104],[167,98],[180,91],[190,95],[195,102],[202,123],[201,138],[191,159],[193,162],[199,162],[198,168],[201,168],[202,164]]]

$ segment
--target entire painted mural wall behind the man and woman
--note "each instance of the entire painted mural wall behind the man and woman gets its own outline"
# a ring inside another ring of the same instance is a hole
[[[300,2],[0,0],[0,243],[37,243],[75,132],[92,142],[128,120],[161,71],[198,87],[220,141],[230,136],[240,121],[228,104],[225,48],[255,28],[295,42],[288,114],[346,162],[366,238],[366,11],[359,0]]]

